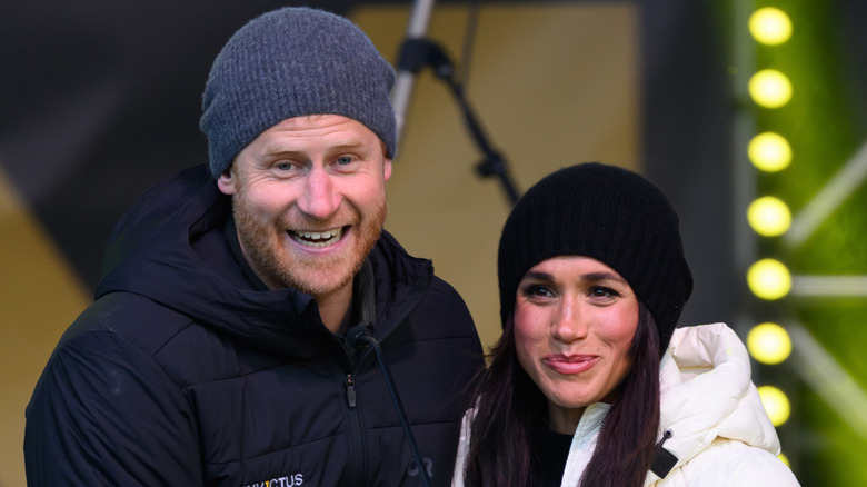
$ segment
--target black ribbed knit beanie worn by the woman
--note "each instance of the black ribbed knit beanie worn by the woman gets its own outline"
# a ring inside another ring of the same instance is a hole
[[[524,275],[564,255],[592,257],[622,276],[654,316],[661,350],[668,347],[692,291],[692,275],[677,213],[658,188],[627,169],[598,162],[560,169],[530,188],[500,237],[504,327]]]

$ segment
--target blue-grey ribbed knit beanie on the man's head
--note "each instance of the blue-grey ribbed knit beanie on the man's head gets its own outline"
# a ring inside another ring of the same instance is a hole
[[[211,175],[219,178],[265,130],[306,115],[358,120],[393,158],[393,69],[370,39],[340,16],[288,7],[251,20],[217,56],[205,86],[199,127]]]

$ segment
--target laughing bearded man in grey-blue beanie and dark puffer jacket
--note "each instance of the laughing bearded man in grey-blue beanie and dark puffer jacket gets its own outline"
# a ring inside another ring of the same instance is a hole
[[[381,344],[435,485],[482,367],[469,312],[387,232],[393,71],[338,16],[286,8],[217,57],[210,163],[112,233],[97,299],[27,409],[28,484],[421,485]]]

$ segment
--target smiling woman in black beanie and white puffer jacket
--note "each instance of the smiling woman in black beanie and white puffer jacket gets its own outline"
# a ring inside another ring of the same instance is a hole
[[[454,486],[798,485],[735,332],[675,329],[692,277],[647,180],[599,163],[546,177],[509,215],[498,272],[504,334]]]

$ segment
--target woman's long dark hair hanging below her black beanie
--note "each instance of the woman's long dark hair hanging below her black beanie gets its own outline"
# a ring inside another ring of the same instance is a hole
[[[608,411],[581,486],[641,486],[650,469],[659,429],[659,334],[641,302],[629,355],[631,370]],[[546,420],[548,406],[518,361],[511,316],[489,359],[477,387],[465,485],[534,485],[532,431]]]

